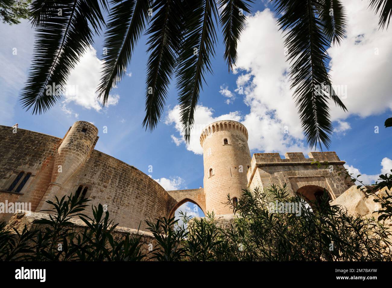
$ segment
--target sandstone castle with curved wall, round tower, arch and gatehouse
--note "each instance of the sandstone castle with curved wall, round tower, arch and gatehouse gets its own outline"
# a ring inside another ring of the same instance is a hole
[[[31,203],[31,211],[50,209],[47,200],[78,192],[105,205],[111,218],[126,228],[138,228],[148,218],[173,216],[190,201],[206,214],[232,214],[242,189],[287,183],[289,193],[315,200],[327,190],[336,199],[354,184],[337,172],[312,161],[328,161],[343,169],[335,152],[257,153],[250,156],[248,131],[232,120],[211,123],[200,136],[203,147],[204,188],[166,191],[137,168],[95,150],[98,129],[76,121],[64,138],[15,127],[0,126],[0,203]],[[85,211],[92,216],[91,209]],[[8,221],[12,213],[0,214]],[[143,228],[142,226],[140,227]],[[143,229],[142,229],[143,230]]]

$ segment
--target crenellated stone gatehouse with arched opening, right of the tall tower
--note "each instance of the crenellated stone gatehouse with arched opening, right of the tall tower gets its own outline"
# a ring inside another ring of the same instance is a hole
[[[310,190],[326,189],[331,199],[336,199],[353,183],[345,179],[345,175],[338,175],[334,168],[344,169],[335,152],[310,152],[305,158],[302,152],[286,153],[281,159],[279,153],[257,153],[250,161],[247,173],[248,188],[269,187],[272,184],[282,186],[287,183],[290,194],[309,194]],[[321,163],[328,161],[328,167],[312,164],[313,161]],[[314,190],[315,191],[315,190]],[[312,200],[312,199],[310,199]]]

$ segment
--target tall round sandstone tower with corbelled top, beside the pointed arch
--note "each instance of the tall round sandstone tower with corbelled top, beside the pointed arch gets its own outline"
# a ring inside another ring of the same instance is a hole
[[[239,199],[247,187],[250,166],[248,130],[237,121],[211,123],[200,136],[204,161],[205,205],[216,215],[230,214],[227,194]]]

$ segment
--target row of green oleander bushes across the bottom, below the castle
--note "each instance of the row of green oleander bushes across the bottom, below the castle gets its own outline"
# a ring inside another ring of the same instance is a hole
[[[142,235],[113,237],[117,224],[102,205],[92,206],[93,217],[83,214],[88,199],[79,195],[56,198],[49,218],[34,221],[41,229],[5,231],[0,224],[3,261],[391,261],[390,230],[383,220],[351,216],[331,206],[325,192],[316,202],[292,197],[283,187],[243,190],[231,223],[214,214],[145,221],[156,245],[142,249]],[[296,204],[295,210],[271,209],[275,203]],[[388,209],[384,209],[389,211]],[[70,218],[86,223],[82,231],[70,228]],[[36,226],[34,226],[36,227]],[[44,228],[43,228],[44,227]]]

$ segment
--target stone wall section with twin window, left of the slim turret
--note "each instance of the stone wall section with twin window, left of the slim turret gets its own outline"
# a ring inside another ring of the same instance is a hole
[[[54,166],[56,151],[61,138],[29,130],[0,126],[0,190],[6,190],[16,178],[17,172],[31,172],[31,177],[20,194],[0,192],[0,202],[31,203],[36,210],[44,196]],[[0,220],[8,220],[9,214],[0,214]]]

